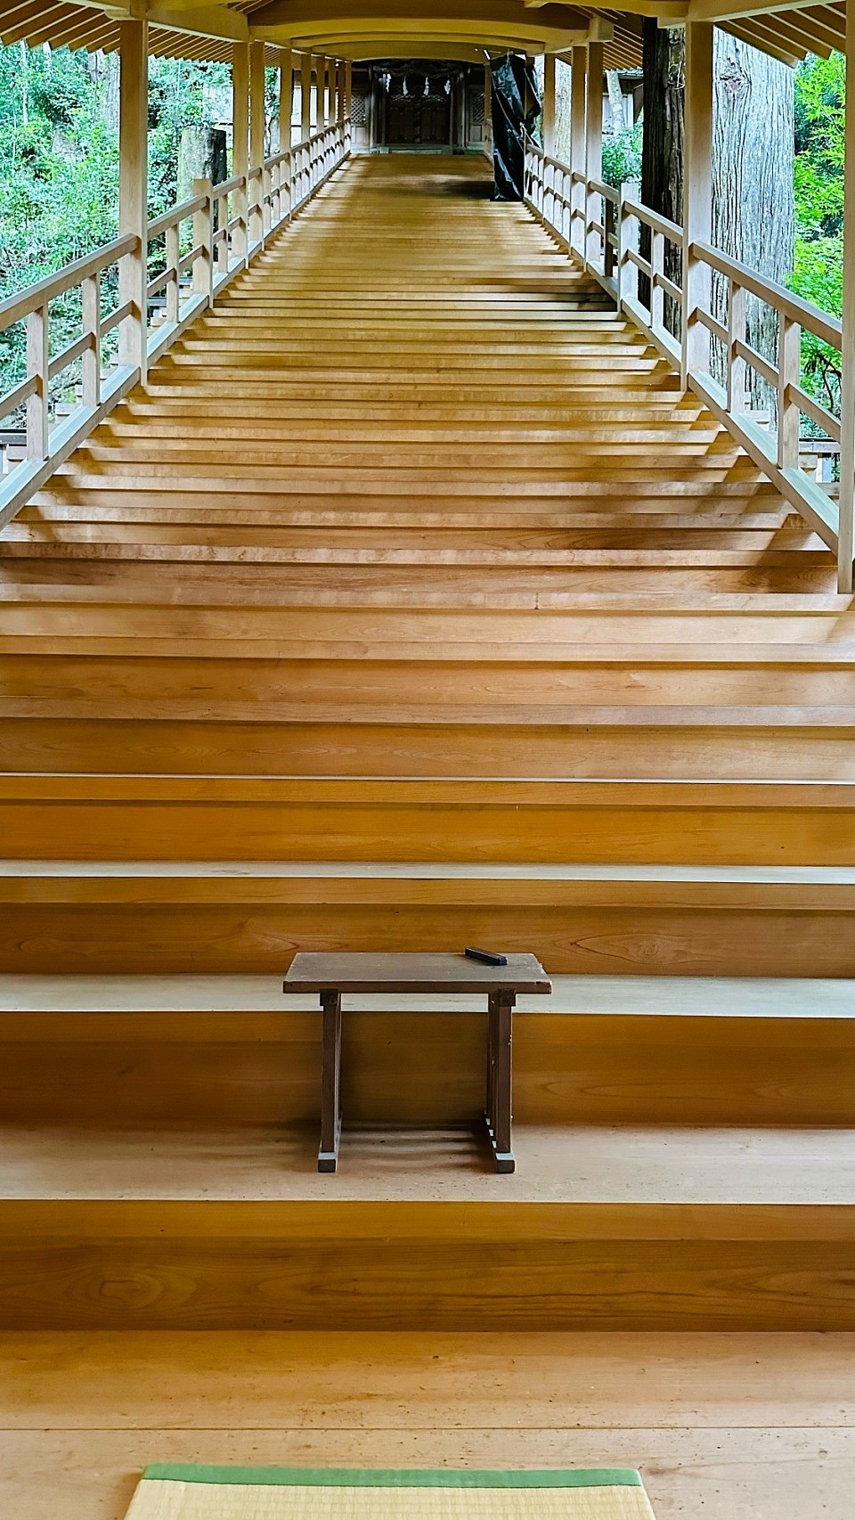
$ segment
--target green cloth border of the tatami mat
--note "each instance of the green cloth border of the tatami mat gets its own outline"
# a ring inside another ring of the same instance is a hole
[[[554,1467],[492,1471],[442,1467],[211,1467],[152,1462],[143,1480],[176,1484],[302,1485],[305,1488],[641,1488],[629,1467]]]

